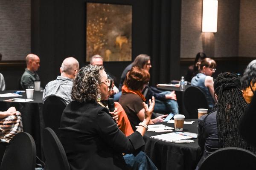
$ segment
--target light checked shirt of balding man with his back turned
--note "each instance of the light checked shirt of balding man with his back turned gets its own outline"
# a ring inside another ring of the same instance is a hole
[[[64,101],[67,104],[69,104],[72,101],[71,99],[72,86],[73,86],[73,79],[63,77],[63,76],[58,76],[57,79],[49,82],[45,86],[44,94],[43,94],[43,103],[47,98],[47,96],[55,95],[64,99]]]

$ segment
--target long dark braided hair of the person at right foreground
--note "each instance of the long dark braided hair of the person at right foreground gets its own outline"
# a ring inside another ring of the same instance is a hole
[[[240,147],[256,153],[239,134],[239,122],[247,103],[241,92],[241,83],[235,73],[221,73],[214,81],[217,102],[217,125],[219,147]]]

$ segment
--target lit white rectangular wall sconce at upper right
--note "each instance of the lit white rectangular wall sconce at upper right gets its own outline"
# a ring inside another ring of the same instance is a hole
[[[218,0],[203,1],[202,32],[217,32]]]

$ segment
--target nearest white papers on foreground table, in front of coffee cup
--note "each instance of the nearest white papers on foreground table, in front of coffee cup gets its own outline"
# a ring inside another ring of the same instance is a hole
[[[173,140],[197,138],[197,134],[196,133],[189,133],[189,132],[173,132],[173,133],[166,133],[166,134],[163,134],[163,135],[151,136],[151,138],[163,140],[163,141],[166,141],[166,142],[172,142]]]

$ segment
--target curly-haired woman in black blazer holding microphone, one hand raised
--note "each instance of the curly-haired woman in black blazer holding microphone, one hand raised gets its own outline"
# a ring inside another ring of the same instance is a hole
[[[154,110],[154,97],[149,107],[143,102],[145,119],[126,137],[113,121],[112,113],[97,104],[108,95],[109,85],[104,68],[98,65],[79,69],[74,79],[73,101],[64,109],[60,124],[60,141],[71,170],[128,169],[129,160],[122,153],[133,153],[135,158],[145,156],[136,154],[145,145],[143,135]],[[143,160],[145,169],[156,169],[148,159]]]

